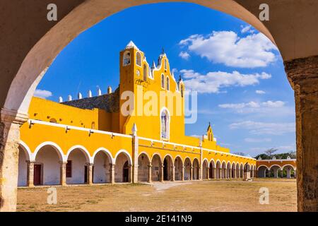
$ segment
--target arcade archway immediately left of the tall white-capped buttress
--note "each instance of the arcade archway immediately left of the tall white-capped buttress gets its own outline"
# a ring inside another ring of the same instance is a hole
[[[115,182],[131,182],[131,158],[128,153],[117,153],[114,171]]]

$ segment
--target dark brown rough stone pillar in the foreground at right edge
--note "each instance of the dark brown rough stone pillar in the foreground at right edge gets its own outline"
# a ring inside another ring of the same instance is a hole
[[[318,55],[284,64],[295,91],[298,210],[318,211]]]

